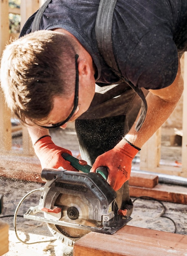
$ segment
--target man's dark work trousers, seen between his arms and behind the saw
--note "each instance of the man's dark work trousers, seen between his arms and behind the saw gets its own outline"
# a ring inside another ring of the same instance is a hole
[[[90,108],[75,121],[81,158],[92,166],[97,156],[112,149],[128,133],[140,108],[141,99],[129,85],[96,86]],[[130,216],[133,204],[128,181],[117,191],[117,204],[119,209],[128,209]]]

